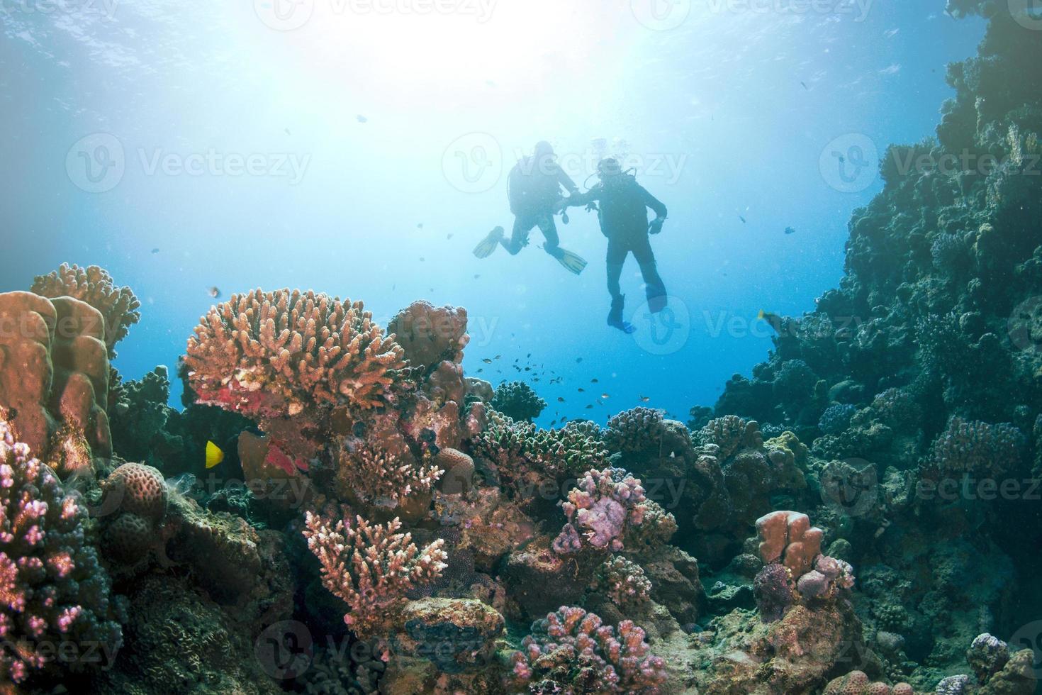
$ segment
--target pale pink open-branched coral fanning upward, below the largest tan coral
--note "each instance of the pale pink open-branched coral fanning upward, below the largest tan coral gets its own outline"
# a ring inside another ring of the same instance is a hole
[[[369,524],[355,517],[352,527],[347,519],[333,524],[307,512],[304,524],[307,547],[322,565],[322,584],[348,604],[344,622],[359,637],[393,620],[405,592],[433,581],[446,567],[445,542],[419,550],[411,533],[397,532],[398,519]]]

